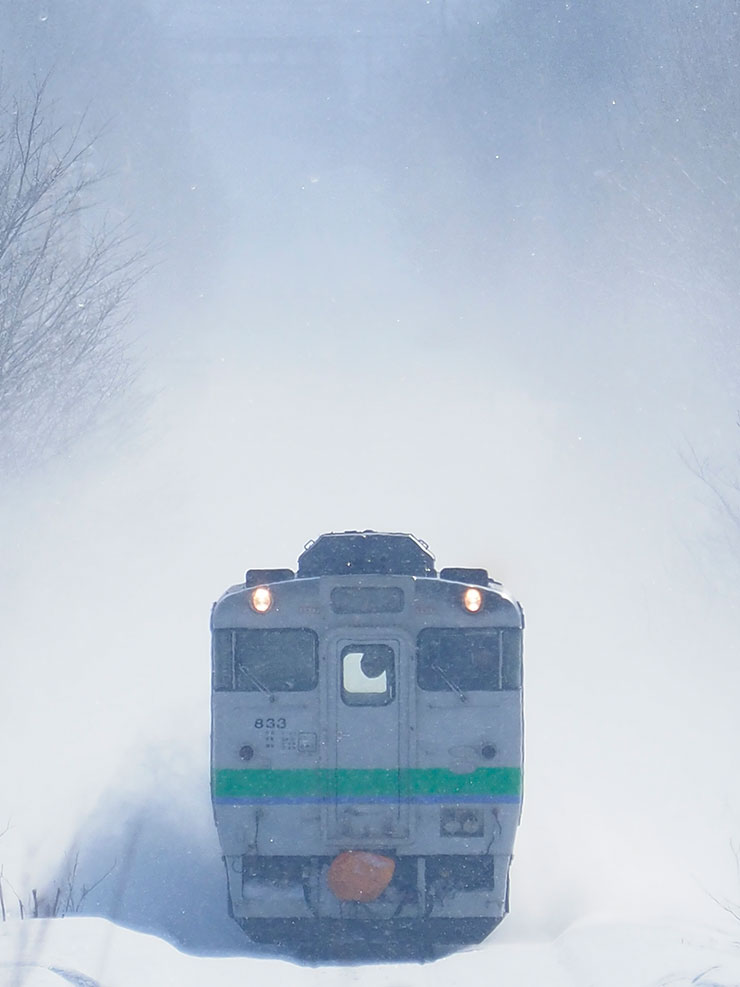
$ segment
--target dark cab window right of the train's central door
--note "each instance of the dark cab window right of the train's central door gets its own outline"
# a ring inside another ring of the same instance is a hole
[[[521,688],[521,631],[428,627],[417,639],[417,682],[430,692]]]

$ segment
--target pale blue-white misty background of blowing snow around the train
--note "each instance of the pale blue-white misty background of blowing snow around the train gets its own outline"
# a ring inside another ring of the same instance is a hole
[[[739,29],[729,0],[0,2],[4,86],[51,72],[104,126],[154,265],[114,424],[2,483],[19,893],[78,849],[88,885],[116,864],[88,911],[242,944],[210,604],[372,527],[527,613],[497,935],[740,898],[736,532],[685,461],[734,475]]]

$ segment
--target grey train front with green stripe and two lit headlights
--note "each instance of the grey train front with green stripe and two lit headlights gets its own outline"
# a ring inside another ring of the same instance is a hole
[[[345,532],[249,570],[211,624],[214,814],[250,937],[488,935],[521,807],[519,604],[410,535]]]

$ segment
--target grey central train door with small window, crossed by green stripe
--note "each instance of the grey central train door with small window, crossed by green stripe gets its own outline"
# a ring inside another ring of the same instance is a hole
[[[327,836],[348,848],[405,839],[408,699],[401,642],[377,631],[349,632],[332,640],[327,657]]]

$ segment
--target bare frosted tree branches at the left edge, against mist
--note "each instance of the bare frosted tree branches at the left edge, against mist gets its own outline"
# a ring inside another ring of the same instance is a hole
[[[44,82],[0,86],[0,472],[66,448],[132,380],[143,259],[125,224],[89,226],[104,176],[83,125],[55,122]]]

